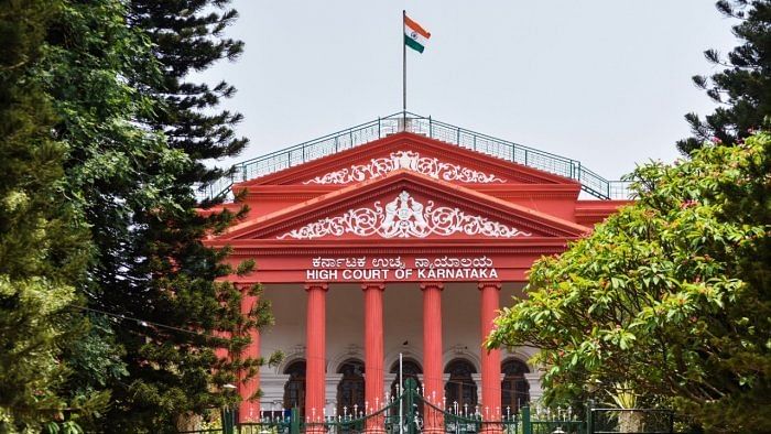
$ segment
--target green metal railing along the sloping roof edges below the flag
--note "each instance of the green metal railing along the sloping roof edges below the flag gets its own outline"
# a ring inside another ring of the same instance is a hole
[[[632,197],[628,188],[629,183],[608,181],[584,167],[579,161],[497,139],[409,111],[400,111],[280,151],[242,161],[232,166],[229,176],[209,184],[197,185],[195,187],[196,195],[198,200],[202,202],[220,197],[229,200],[232,199],[234,184],[283,171],[402,131],[422,134],[456,147],[575,180],[580,183],[584,192],[598,199],[628,199]]]

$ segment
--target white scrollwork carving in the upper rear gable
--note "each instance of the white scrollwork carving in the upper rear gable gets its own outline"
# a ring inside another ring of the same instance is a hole
[[[368,164],[355,164],[329,172],[305,181],[303,184],[349,184],[383,176],[399,169],[406,169],[443,181],[478,184],[506,182],[491,173],[487,174],[458,164],[442,162],[438,159],[421,156],[414,151],[397,151],[388,158],[372,159]]]

